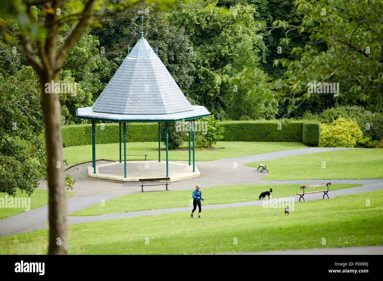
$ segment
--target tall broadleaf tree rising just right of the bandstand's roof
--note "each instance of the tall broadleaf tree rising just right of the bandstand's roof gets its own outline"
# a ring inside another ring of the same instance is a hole
[[[239,45],[244,39],[250,42],[250,49],[259,61],[265,62],[267,47],[263,41],[256,39],[260,29],[254,26],[256,10],[253,5],[233,5],[229,11],[224,11],[217,2],[218,0],[188,3],[180,1],[169,12],[168,19],[172,24],[184,27],[186,33],[190,34],[191,47],[195,54],[195,79],[191,85],[191,98],[196,104],[206,106],[216,118],[223,119],[228,106],[231,108],[229,111],[233,112],[231,106],[238,107],[241,104],[236,105],[233,97],[226,97],[224,104],[216,78],[232,74],[232,64],[240,58]],[[237,29],[236,24],[239,22],[251,26],[251,31],[244,34]],[[241,93],[243,91],[234,92],[239,95]],[[249,115],[248,118],[253,117],[252,114]]]

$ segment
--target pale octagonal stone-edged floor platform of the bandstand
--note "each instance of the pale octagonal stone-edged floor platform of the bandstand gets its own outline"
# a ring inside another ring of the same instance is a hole
[[[99,180],[112,182],[137,182],[139,179],[166,177],[166,161],[126,161],[126,178],[124,178],[124,162],[119,161],[96,165],[96,174],[93,167],[88,167],[88,176]],[[200,176],[200,171],[193,164],[169,161],[170,182]]]

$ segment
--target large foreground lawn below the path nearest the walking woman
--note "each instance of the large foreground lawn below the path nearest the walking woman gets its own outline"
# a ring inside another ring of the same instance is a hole
[[[80,223],[69,227],[69,253],[200,254],[381,245],[382,202],[383,190],[378,190],[295,203],[290,216],[283,208],[249,206],[206,210],[202,219],[182,212]],[[47,229],[1,237],[0,254],[46,253],[47,240]]]

